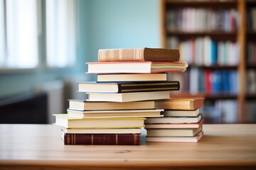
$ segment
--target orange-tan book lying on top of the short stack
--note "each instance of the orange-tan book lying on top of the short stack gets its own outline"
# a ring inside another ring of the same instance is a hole
[[[156,108],[195,110],[202,108],[204,98],[169,98],[167,100],[155,101]]]

